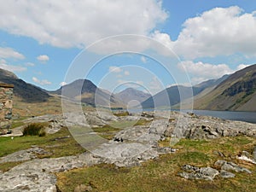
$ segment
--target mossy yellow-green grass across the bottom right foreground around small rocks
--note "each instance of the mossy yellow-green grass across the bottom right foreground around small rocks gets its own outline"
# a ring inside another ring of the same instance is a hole
[[[168,143],[160,143],[168,145]],[[90,185],[93,191],[255,191],[256,166],[233,159],[229,154],[242,150],[250,151],[256,140],[250,137],[223,137],[214,140],[180,140],[174,154],[162,155],[157,160],[148,160],[142,166],[117,168],[113,165],[98,165],[57,173],[61,191],[73,191],[79,184]],[[232,147],[231,147],[232,146]],[[215,151],[226,154],[219,157]],[[215,160],[229,160],[247,167],[253,173],[236,173],[235,178],[217,177],[210,181],[191,181],[178,177],[181,166],[212,166]]]

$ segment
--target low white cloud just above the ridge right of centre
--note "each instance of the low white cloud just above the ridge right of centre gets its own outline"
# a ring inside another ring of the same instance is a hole
[[[177,64],[184,72],[189,73],[192,84],[201,83],[207,79],[218,79],[225,74],[234,73],[234,70],[226,64],[213,65],[210,63],[182,61]]]

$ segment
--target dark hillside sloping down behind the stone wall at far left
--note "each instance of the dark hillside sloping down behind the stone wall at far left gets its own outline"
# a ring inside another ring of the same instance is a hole
[[[0,68],[0,82],[14,84],[14,95],[22,102],[46,102],[49,95],[37,86],[27,84],[22,79],[7,70]]]

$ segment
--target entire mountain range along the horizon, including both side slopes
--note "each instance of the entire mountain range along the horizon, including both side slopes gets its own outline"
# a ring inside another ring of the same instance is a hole
[[[183,108],[190,108],[193,101],[194,109],[256,111],[256,65],[192,87],[175,85],[154,96],[133,88],[113,94],[96,87],[88,79],[78,79],[58,90],[46,91],[3,69],[0,69],[0,82],[14,84],[14,95],[22,102],[45,102],[51,96],[66,96],[93,107],[126,108],[131,100],[137,100],[143,108],[181,108],[181,102]]]

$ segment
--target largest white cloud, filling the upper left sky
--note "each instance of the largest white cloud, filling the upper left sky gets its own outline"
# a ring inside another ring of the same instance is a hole
[[[65,48],[117,34],[148,35],[167,17],[155,0],[9,0],[0,12],[0,29]]]

